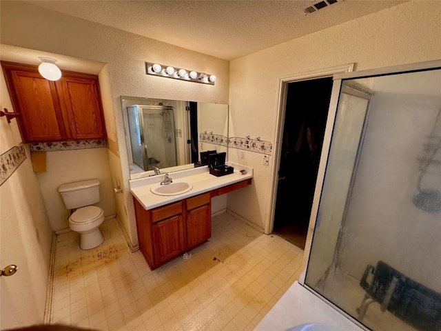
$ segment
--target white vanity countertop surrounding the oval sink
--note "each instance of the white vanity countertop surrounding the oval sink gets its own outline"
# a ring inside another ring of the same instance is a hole
[[[206,165],[188,170],[170,172],[169,176],[173,179],[174,183],[184,181],[193,185],[192,190],[183,194],[162,196],[150,191],[152,186],[163,181],[164,174],[130,180],[130,192],[136,200],[141,203],[145,210],[150,210],[152,208],[160,207],[161,205],[166,205],[167,203],[180,201],[188,197],[193,197],[201,193],[215,190],[216,188],[222,188],[223,186],[238,183],[239,181],[245,181],[245,179],[253,177],[252,168],[231,162],[227,162],[226,164],[231,165],[234,168],[234,172],[220,177],[210,174]],[[246,173],[241,174],[240,170],[245,170]]]

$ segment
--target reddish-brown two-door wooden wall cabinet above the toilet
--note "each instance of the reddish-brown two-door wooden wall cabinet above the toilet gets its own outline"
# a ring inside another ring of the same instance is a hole
[[[106,138],[98,76],[62,71],[48,81],[37,66],[1,66],[24,143]]]

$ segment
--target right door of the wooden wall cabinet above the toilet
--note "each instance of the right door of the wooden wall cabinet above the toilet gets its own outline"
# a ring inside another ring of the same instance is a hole
[[[61,106],[69,119],[72,139],[105,138],[99,83],[95,77],[70,77],[57,81]]]

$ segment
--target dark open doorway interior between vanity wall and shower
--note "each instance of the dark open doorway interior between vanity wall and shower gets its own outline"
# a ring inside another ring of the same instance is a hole
[[[332,77],[288,84],[273,232],[305,249]]]

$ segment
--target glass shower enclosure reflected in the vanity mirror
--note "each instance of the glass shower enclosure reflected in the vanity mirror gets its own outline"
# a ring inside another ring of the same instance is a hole
[[[177,165],[172,106],[130,106],[127,119],[134,164],[144,171]]]

